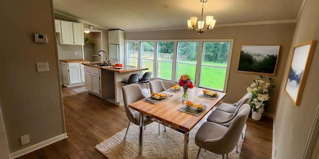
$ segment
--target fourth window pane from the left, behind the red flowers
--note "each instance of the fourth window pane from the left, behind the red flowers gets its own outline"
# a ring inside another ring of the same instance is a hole
[[[177,42],[176,74],[175,82],[181,75],[187,73],[195,83],[198,43],[189,41]]]

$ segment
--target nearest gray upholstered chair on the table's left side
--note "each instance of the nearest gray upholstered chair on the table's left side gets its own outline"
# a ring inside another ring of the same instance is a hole
[[[124,139],[126,139],[131,122],[135,125],[140,125],[140,112],[131,109],[129,107],[129,104],[139,101],[145,98],[146,96],[143,94],[142,88],[140,87],[139,84],[130,84],[130,85],[123,86],[122,93],[123,93],[123,100],[124,100],[124,106],[125,106],[125,113],[127,118],[129,119],[128,128],[126,130],[125,137],[124,137]],[[144,121],[143,124],[146,126],[158,120],[144,117],[143,121]],[[160,123],[159,123],[159,135],[160,135]]]

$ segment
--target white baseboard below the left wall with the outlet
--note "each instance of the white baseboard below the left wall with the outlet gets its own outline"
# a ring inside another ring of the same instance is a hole
[[[50,144],[53,144],[55,142],[58,142],[60,140],[63,140],[63,139],[66,139],[67,138],[67,135],[66,133],[64,134],[61,134],[61,135],[58,135],[56,137],[53,137],[51,139],[48,139],[48,140],[45,140],[43,142],[40,142],[40,143],[37,143],[37,144],[34,144],[32,146],[29,146],[27,148],[24,148],[24,149],[21,149],[21,150],[18,150],[16,152],[13,152],[13,153],[10,153],[9,154],[9,159],[15,159],[15,158],[18,158],[20,156],[23,156],[25,154],[28,154],[28,153],[31,153],[35,150],[38,150],[38,149],[41,149],[43,147],[46,147]]]

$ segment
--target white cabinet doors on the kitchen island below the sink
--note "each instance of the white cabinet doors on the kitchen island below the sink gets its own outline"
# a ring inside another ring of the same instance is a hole
[[[99,68],[84,66],[85,71],[85,88],[99,97],[101,93],[101,70]]]

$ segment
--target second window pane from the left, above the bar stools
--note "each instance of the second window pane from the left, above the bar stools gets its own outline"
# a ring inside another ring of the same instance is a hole
[[[152,76],[154,76],[154,41],[143,41],[141,42],[141,67],[149,68],[149,70],[144,70],[145,72],[152,72]]]

